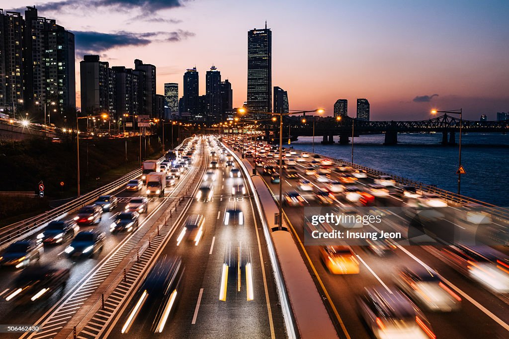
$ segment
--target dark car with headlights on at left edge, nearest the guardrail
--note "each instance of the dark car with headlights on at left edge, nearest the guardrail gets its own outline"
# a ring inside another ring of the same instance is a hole
[[[36,240],[18,240],[7,246],[0,255],[0,266],[21,268],[41,258],[42,243]]]

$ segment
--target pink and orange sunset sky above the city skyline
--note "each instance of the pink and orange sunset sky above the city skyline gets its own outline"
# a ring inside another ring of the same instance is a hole
[[[79,61],[99,54],[110,66],[157,67],[157,93],[186,68],[214,64],[233,85],[234,107],[246,99],[247,31],[272,30],[272,85],[288,91],[291,109],[338,98],[367,98],[371,120],[421,120],[430,109],[463,108],[477,120],[509,110],[509,1],[34,1],[39,15],[76,35]],[[2,0],[4,10],[20,0]]]

